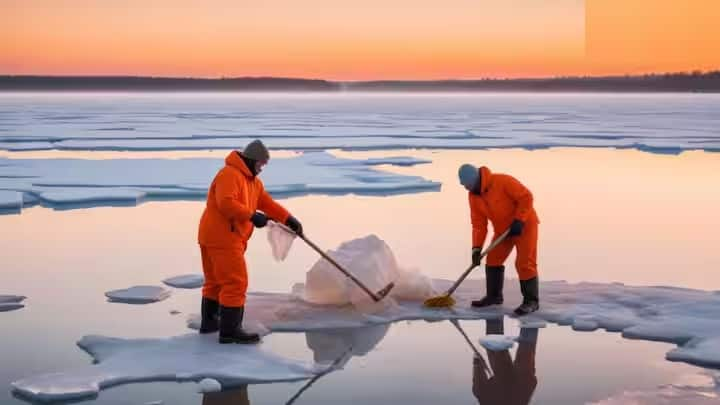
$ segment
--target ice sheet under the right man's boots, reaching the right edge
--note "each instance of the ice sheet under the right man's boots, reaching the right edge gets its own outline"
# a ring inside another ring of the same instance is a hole
[[[439,290],[452,281],[433,280]],[[421,300],[392,299],[379,312],[365,313],[352,305],[313,304],[304,301],[296,286],[293,293],[250,293],[248,319],[271,332],[353,328],[400,320],[493,319],[511,315],[521,302],[516,282],[505,287],[502,307],[474,309],[470,301],[484,294],[484,280],[468,279],[455,292],[452,309],[426,308]],[[541,309],[527,327],[541,327],[538,320],[574,325],[593,319],[598,329],[622,332],[626,338],[675,343],[666,358],[706,367],[720,367],[720,293],[668,287],[632,287],[620,283],[541,283]],[[387,298],[386,298],[387,299]],[[188,325],[197,329],[197,316]]]

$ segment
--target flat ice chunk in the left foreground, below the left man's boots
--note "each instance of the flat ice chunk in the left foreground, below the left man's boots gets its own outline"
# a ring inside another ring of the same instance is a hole
[[[12,383],[34,401],[92,398],[111,386],[147,381],[217,380],[223,386],[310,378],[314,365],[287,360],[258,345],[219,345],[216,335],[120,339],[85,336],[79,342],[96,364]]]

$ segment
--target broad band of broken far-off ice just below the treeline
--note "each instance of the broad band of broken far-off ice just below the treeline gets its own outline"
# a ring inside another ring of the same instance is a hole
[[[22,108],[22,106],[31,106]],[[720,150],[709,94],[0,95],[0,149]]]

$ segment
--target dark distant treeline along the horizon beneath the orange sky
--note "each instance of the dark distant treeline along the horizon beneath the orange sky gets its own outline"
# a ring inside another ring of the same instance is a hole
[[[0,91],[720,92],[720,71],[642,76],[334,82],[274,77],[0,76]]]

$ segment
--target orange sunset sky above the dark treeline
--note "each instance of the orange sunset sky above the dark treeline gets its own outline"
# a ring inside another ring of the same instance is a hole
[[[547,77],[720,69],[718,0],[0,0],[0,74]]]

